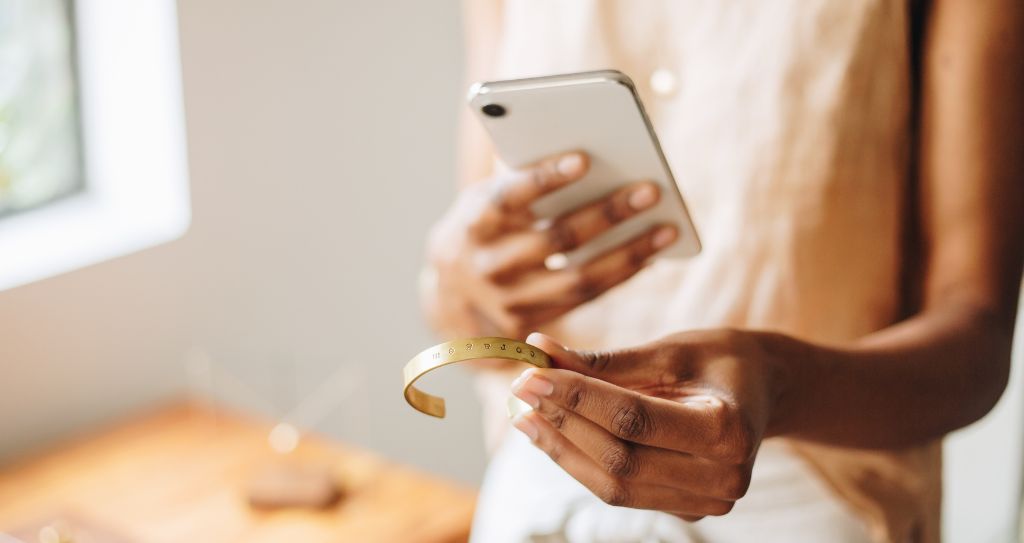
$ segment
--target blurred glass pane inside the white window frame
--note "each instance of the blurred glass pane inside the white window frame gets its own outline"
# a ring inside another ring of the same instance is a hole
[[[0,217],[83,185],[68,0],[0,0]]]

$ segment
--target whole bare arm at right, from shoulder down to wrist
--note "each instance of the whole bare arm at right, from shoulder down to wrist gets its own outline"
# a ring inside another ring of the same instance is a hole
[[[801,346],[782,402],[795,436],[895,448],[941,437],[998,401],[1024,246],[1024,7],[929,3],[922,43],[918,285],[924,309],[850,345]]]

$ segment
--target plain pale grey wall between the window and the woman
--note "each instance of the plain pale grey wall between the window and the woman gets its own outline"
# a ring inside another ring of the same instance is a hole
[[[468,380],[439,379],[435,421],[399,376],[433,342],[415,284],[453,194],[459,3],[182,0],[179,17],[191,228],[0,293],[0,455],[181,393],[203,353],[279,413],[357,364],[364,386],[318,429],[475,481]]]

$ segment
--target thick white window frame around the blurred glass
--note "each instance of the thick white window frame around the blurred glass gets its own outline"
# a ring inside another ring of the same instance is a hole
[[[77,0],[84,186],[0,219],[0,290],[182,236],[190,221],[173,0]]]

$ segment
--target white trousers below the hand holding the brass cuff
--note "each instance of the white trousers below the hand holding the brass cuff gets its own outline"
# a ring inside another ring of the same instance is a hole
[[[612,507],[565,473],[519,431],[492,459],[472,543],[864,543],[863,523],[784,444],[766,441],[751,488],[721,517],[686,523]]]

